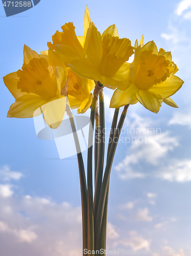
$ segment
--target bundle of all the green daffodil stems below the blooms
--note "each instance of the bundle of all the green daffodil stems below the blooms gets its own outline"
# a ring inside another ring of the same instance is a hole
[[[107,229],[107,211],[109,198],[109,180],[114,154],[123,123],[127,114],[128,105],[124,106],[120,120],[117,124],[119,108],[115,109],[113,121],[110,130],[108,142],[106,165],[104,170],[105,156],[105,111],[104,111],[104,86],[95,81],[96,87],[93,92],[93,100],[91,104],[90,129],[88,138],[87,153],[87,182],[85,176],[84,162],[82,153],[77,154],[78,167],[80,175],[81,201],[82,201],[82,227],[83,227],[83,255],[93,256],[96,251],[104,252],[106,250],[106,229]],[[98,112],[99,98],[99,112]],[[70,124],[73,130],[77,152],[80,151],[80,143],[78,140],[77,130],[74,122],[73,114],[67,109]],[[96,120],[96,129],[94,129],[94,121]],[[93,196],[93,133],[94,138],[94,196]],[[102,249],[102,251],[101,251]],[[98,253],[98,252],[97,252]]]

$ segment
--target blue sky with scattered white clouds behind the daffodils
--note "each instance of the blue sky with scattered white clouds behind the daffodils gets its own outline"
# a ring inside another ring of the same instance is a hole
[[[107,250],[151,250],[156,256],[180,248],[189,254],[191,0],[41,0],[11,17],[0,5],[0,77],[22,67],[24,44],[38,53],[47,50],[47,41],[65,23],[73,22],[76,34],[83,35],[87,4],[100,32],[116,24],[132,45],[144,34],[145,42],[171,51],[184,81],[172,97],[178,109],[162,104],[154,114],[139,103],[128,109],[111,171]],[[81,255],[77,157],[60,160],[54,140],[37,138],[33,118],[7,118],[14,98],[0,81],[0,254]],[[104,95],[109,131],[112,92],[104,89]]]

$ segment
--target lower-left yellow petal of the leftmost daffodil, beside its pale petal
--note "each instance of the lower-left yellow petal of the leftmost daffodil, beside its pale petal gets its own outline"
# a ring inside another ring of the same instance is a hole
[[[35,95],[23,95],[20,98],[17,98],[15,103],[10,106],[7,117],[16,117],[16,118],[27,118],[33,117],[34,111],[38,109],[41,105],[47,101],[42,99],[39,96]],[[35,115],[40,115],[41,113],[35,112]]]

